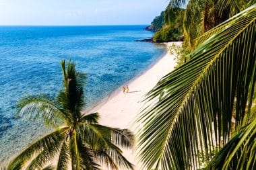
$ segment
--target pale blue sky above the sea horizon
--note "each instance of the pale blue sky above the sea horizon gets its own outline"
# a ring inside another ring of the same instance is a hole
[[[0,25],[150,24],[168,0],[0,0]]]

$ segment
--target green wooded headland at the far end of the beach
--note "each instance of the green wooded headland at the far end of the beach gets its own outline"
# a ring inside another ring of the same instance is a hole
[[[183,15],[185,9],[166,9],[156,16],[146,30],[156,31],[154,42],[183,40]]]

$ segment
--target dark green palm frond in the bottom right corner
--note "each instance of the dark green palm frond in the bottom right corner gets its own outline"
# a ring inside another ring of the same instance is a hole
[[[208,169],[256,169],[256,119],[233,136]]]

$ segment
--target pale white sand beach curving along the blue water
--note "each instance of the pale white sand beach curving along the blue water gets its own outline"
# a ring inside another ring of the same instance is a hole
[[[181,42],[169,42],[168,44],[170,43],[181,45]],[[100,124],[102,125],[129,128],[135,132],[135,127],[132,124],[143,106],[140,101],[164,75],[173,70],[175,65],[174,57],[169,52],[166,52],[148,71],[127,83],[129,93],[123,93],[123,86],[120,87],[119,91],[115,91],[96,105],[95,108],[90,110],[90,113],[100,113]],[[136,151],[124,151],[124,155],[135,165],[135,169],[139,169],[140,163],[135,159]]]

